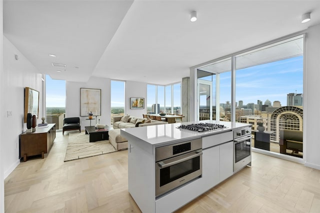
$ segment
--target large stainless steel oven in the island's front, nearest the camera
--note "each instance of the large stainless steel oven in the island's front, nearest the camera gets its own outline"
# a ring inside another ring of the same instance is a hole
[[[155,148],[155,196],[202,175],[202,140]]]

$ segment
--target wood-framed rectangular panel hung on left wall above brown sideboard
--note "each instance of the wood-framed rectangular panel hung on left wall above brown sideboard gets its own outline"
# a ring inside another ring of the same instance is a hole
[[[26,122],[26,114],[39,115],[39,91],[30,87],[24,89],[24,122]]]

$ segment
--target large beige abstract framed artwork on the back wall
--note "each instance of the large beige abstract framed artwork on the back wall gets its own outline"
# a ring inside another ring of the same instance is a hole
[[[101,115],[101,89],[80,88],[80,116]]]

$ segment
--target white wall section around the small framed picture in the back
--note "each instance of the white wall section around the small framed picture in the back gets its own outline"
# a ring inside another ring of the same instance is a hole
[[[143,109],[130,109],[130,97],[143,97]],[[126,81],[126,110],[125,113],[134,117],[142,117],[146,114],[146,83],[136,81]]]

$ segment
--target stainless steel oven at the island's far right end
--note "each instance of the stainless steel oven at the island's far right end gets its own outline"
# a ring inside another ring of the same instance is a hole
[[[233,172],[251,165],[251,127],[233,131]]]

